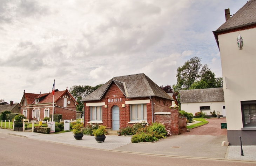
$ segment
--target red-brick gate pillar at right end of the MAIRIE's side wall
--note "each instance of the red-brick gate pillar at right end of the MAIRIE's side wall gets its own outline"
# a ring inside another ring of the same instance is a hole
[[[178,107],[171,107],[171,134],[178,135],[179,121],[178,121]]]

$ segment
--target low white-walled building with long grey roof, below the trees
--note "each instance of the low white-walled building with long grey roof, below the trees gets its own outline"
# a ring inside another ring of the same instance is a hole
[[[189,113],[204,112],[213,117],[210,112],[220,112],[220,117],[225,114],[225,101],[223,88],[192,89],[180,91],[181,110]]]

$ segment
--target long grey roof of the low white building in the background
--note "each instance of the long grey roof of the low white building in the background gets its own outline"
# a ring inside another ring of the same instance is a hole
[[[181,90],[180,101],[181,103],[224,101],[223,88]]]

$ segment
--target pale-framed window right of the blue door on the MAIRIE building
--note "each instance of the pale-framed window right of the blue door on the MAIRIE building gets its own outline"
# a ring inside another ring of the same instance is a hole
[[[147,120],[147,104],[130,105],[131,121]]]

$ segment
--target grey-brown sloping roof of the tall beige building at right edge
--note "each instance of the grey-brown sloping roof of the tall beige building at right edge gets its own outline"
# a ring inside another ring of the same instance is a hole
[[[256,22],[256,0],[251,0],[239,9],[232,17],[222,24],[217,30],[236,27],[239,25]]]

